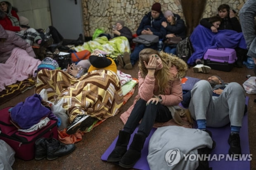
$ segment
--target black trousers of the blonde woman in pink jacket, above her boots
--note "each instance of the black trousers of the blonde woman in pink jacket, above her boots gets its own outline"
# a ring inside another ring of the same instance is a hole
[[[138,132],[142,132],[146,137],[148,137],[155,121],[167,122],[172,119],[171,112],[166,106],[160,103],[157,105],[150,103],[146,106],[146,103],[147,102],[142,99],[139,99],[136,102],[126,124],[123,127],[124,131],[132,134],[141,120]]]

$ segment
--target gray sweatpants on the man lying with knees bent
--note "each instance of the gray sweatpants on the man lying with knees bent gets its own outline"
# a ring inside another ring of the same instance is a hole
[[[216,97],[212,96],[210,83],[200,80],[191,90],[191,97],[189,110],[194,120],[206,119],[208,127],[222,127],[228,123],[242,126],[245,92],[238,83],[229,83]]]

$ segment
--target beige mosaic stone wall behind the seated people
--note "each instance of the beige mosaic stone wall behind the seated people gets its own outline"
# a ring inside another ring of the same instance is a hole
[[[245,1],[206,0],[202,17],[216,15],[218,6],[223,3],[227,3],[230,8],[239,12]],[[117,20],[125,21],[125,25],[135,33],[142,17],[151,10],[154,2],[161,4],[163,12],[169,9],[184,19],[180,0],[83,0],[82,2],[85,36],[92,36],[96,28],[104,30],[105,33],[111,33],[112,25]]]

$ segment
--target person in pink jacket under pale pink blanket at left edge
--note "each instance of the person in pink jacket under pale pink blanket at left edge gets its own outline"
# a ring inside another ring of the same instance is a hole
[[[34,77],[39,59],[32,47],[13,31],[0,25],[0,92],[5,86]]]

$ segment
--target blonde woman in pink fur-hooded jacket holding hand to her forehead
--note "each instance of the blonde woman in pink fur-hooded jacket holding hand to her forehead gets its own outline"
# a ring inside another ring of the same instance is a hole
[[[172,119],[170,106],[182,101],[180,78],[185,77],[187,64],[178,57],[146,48],[139,54],[139,89],[135,102],[126,111],[130,113],[114,150],[107,158],[109,162],[118,162],[123,168],[132,168],[139,160],[145,139],[155,122],[167,122]],[[127,145],[130,135],[138,127],[130,148]]]

